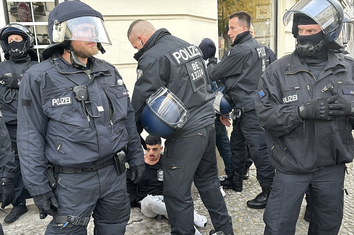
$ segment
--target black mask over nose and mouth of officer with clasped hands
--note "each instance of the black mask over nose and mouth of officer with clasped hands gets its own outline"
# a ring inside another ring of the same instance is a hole
[[[325,41],[322,31],[313,35],[297,35],[296,49],[299,55],[303,57],[319,57],[320,51],[322,52],[321,54],[326,53],[326,50],[322,48],[324,43]],[[314,54],[316,55],[314,56]]]

